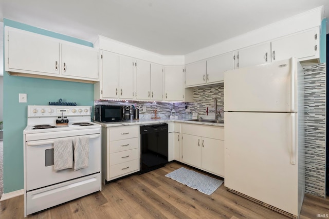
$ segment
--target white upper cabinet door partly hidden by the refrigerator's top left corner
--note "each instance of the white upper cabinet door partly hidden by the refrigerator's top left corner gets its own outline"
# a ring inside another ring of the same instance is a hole
[[[207,83],[224,82],[224,71],[234,69],[233,56],[227,53],[207,60]]]

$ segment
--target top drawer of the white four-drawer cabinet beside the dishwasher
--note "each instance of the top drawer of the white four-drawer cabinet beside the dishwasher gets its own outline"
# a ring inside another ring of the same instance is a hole
[[[109,129],[109,141],[138,137],[139,126],[123,126]]]

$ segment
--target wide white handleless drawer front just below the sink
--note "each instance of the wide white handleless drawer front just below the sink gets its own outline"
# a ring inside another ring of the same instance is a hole
[[[209,137],[217,140],[224,140],[224,127],[182,124],[181,132],[184,134]]]

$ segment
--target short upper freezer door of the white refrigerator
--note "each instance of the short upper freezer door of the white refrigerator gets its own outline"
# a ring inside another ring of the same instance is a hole
[[[297,112],[297,59],[226,71],[225,111]]]

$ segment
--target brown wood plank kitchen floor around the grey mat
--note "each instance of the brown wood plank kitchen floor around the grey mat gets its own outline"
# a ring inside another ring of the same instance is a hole
[[[27,218],[288,218],[243,197],[224,185],[211,195],[165,177],[185,165],[132,175],[102,186],[77,200],[29,215]],[[329,199],[306,195],[301,219],[329,213]],[[0,218],[24,218],[23,195],[0,202]]]

